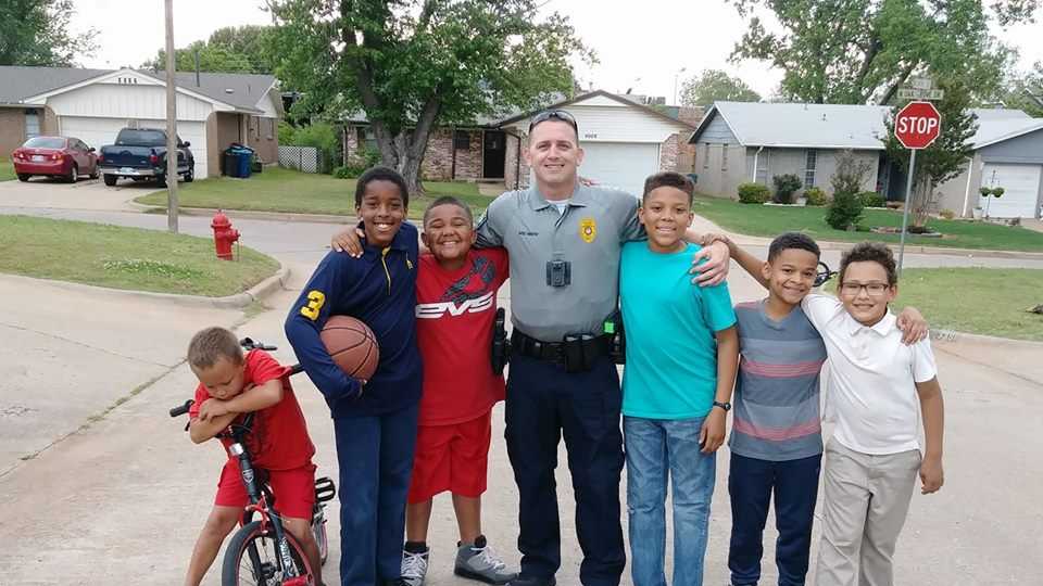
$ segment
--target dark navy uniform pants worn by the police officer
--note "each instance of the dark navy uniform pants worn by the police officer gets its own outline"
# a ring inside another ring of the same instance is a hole
[[[522,576],[549,578],[562,564],[557,445],[565,436],[576,497],[585,586],[616,586],[626,565],[619,517],[623,395],[616,366],[602,357],[589,372],[514,356],[507,380],[506,441],[520,504]]]

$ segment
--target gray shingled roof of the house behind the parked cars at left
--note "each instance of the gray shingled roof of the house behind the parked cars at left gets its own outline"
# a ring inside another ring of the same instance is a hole
[[[39,95],[65,86],[86,81],[118,69],[79,69],[72,67],[16,67],[0,66],[0,104],[17,104],[26,98]],[[164,72],[138,69],[138,73],[165,81]],[[212,100],[224,102],[241,110],[256,111],[275,77],[271,75],[200,73],[199,86],[196,73],[177,73],[178,87],[201,93]],[[229,93],[226,90],[231,90]]]

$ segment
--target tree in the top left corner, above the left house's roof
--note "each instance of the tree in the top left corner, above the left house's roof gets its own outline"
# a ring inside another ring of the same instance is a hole
[[[0,65],[72,67],[97,50],[90,29],[68,31],[73,0],[0,0]]]

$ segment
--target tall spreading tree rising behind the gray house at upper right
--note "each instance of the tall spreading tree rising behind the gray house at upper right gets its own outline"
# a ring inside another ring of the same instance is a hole
[[[790,100],[887,104],[925,72],[993,97],[1010,55],[989,36],[990,13],[980,0],[730,1],[750,17],[732,59],[781,68]],[[1001,24],[1028,21],[1038,3],[997,0],[991,14]],[[770,11],[782,31],[769,31],[754,15],[758,8]]]

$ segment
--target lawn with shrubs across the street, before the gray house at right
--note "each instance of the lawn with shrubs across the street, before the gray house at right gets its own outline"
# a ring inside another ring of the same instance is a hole
[[[774,238],[782,232],[801,231],[818,240],[860,242],[875,240],[897,243],[899,234],[846,232],[826,224],[826,207],[782,207],[741,204],[720,198],[698,196],[694,212],[726,230],[749,235]],[[892,209],[866,209],[863,226],[902,227],[902,213]],[[998,226],[981,221],[931,219],[931,228],[944,238],[912,235],[906,243],[923,246],[1043,252],[1043,233],[1027,228]]]

